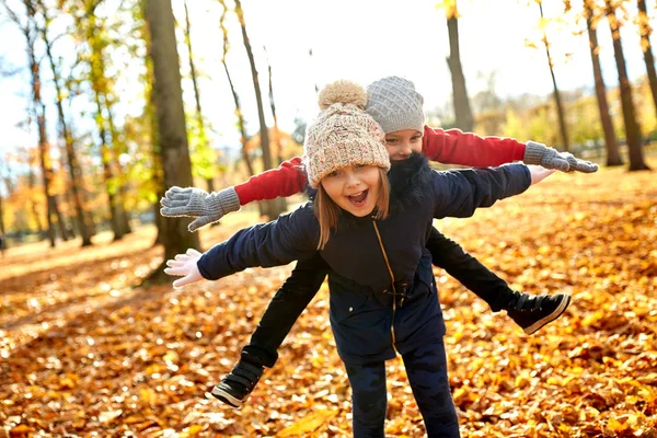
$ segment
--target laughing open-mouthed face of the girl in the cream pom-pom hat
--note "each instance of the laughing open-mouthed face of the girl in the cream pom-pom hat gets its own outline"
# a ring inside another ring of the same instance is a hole
[[[324,176],[321,184],[339,208],[361,218],[377,205],[381,172],[376,165],[347,165]]]

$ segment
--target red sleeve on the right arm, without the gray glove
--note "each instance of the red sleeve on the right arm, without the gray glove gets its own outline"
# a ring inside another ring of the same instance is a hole
[[[459,129],[425,126],[422,152],[430,161],[485,168],[522,160],[525,143],[512,138],[480,137]]]

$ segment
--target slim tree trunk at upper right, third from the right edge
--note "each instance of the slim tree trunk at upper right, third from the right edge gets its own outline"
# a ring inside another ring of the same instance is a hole
[[[596,82],[596,97],[598,100],[598,111],[600,112],[600,123],[604,132],[604,145],[607,147],[607,165],[623,165],[623,159],[619,151],[619,143],[613,131],[613,123],[609,115],[609,103],[607,102],[607,85],[602,78],[602,68],[600,66],[600,56],[598,54],[598,31],[597,22],[593,22],[593,9],[589,3],[590,0],[585,0],[584,11],[586,15],[586,30],[589,37],[589,49],[591,54],[591,64],[593,66],[593,79]]]

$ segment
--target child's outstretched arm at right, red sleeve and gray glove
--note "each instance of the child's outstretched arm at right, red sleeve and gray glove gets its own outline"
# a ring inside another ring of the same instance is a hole
[[[598,170],[598,164],[535,141],[522,143],[514,138],[480,137],[459,129],[443,130],[428,126],[424,129],[423,152],[431,161],[473,168],[521,160],[526,164],[538,164],[562,172],[591,173]]]

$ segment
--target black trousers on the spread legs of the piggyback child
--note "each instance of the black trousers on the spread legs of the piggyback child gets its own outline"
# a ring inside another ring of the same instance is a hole
[[[431,253],[434,265],[443,268],[476,293],[493,311],[499,311],[508,302],[512,290],[506,281],[435,228],[431,229],[427,241],[427,250]],[[243,360],[266,367],[274,366],[278,359],[278,347],[316,295],[327,270],[328,267],[319,253],[297,264],[290,277],[269,302],[251,337],[251,343],[242,349]]]

